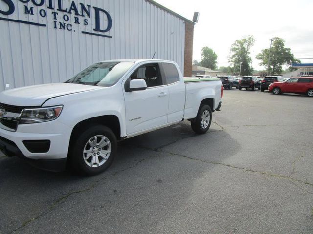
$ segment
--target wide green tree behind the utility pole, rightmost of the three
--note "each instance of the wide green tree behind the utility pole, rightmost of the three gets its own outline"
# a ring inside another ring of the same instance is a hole
[[[291,53],[290,48],[285,47],[285,40],[281,38],[273,38],[272,48],[264,49],[260,54],[256,56],[257,59],[261,60],[260,66],[264,66],[268,69],[268,58],[270,52],[270,64],[269,74],[281,74],[283,72],[284,65],[291,65],[291,63],[301,63],[299,59],[295,59]],[[289,70],[294,70],[291,66]]]

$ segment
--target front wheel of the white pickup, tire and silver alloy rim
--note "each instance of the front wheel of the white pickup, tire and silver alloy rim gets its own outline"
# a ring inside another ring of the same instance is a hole
[[[117,140],[110,128],[90,126],[71,143],[69,163],[77,173],[93,176],[111,165],[116,148]]]

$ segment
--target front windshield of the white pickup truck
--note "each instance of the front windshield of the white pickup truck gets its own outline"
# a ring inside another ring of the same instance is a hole
[[[66,83],[109,87],[117,83],[134,62],[98,62],[78,73]]]

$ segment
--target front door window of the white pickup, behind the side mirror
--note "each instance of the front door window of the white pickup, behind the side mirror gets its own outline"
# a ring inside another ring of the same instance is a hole
[[[156,64],[139,67],[131,75],[131,79],[144,79],[148,88],[162,85],[162,78]]]

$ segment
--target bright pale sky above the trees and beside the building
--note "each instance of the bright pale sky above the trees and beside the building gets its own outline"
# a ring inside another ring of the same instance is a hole
[[[269,48],[270,39],[286,41],[295,57],[313,58],[313,0],[155,0],[192,20],[200,12],[194,30],[193,59],[201,60],[201,48],[208,46],[218,55],[218,66],[228,66],[232,43],[248,35],[256,42],[251,50],[252,66],[262,70],[255,56]],[[300,59],[313,63],[313,59]]]

